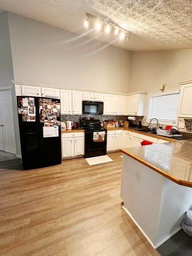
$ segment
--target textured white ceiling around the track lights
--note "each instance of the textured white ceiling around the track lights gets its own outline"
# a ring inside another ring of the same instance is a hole
[[[113,44],[128,50],[192,48],[191,0],[0,0],[0,10],[83,34],[85,13],[107,16],[131,31],[129,42]],[[115,37],[89,37],[110,43]]]

